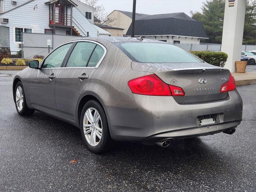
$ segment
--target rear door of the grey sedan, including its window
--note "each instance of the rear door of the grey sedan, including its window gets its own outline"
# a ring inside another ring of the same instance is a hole
[[[76,120],[76,106],[82,91],[106,54],[97,42],[80,41],[66,58],[65,66],[56,75],[56,106],[61,116]]]

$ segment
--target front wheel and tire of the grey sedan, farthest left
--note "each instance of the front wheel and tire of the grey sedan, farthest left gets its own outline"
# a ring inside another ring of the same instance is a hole
[[[14,102],[16,110],[20,115],[28,116],[32,115],[35,112],[35,110],[32,110],[27,106],[24,88],[20,81],[15,86]]]

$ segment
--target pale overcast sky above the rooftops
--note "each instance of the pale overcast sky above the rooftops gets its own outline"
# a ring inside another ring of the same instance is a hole
[[[136,12],[144,14],[163,14],[184,12],[189,14],[190,10],[201,12],[204,0],[137,0]],[[110,14],[113,10],[132,12],[133,0],[99,0],[98,5],[103,5],[106,12]]]

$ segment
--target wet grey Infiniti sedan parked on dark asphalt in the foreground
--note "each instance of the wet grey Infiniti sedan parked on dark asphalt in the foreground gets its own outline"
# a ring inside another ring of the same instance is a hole
[[[112,140],[168,146],[232,134],[242,99],[229,70],[155,40],[102,37],[62,44],[15,76],[20,115],[44,112],[81,130],[88,150]]]

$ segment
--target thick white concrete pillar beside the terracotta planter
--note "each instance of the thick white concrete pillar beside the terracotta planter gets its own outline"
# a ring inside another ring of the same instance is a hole
[[[236,71],[241,59],[246,0],[226,0],[221,51],[228,54],[225,68]]]

